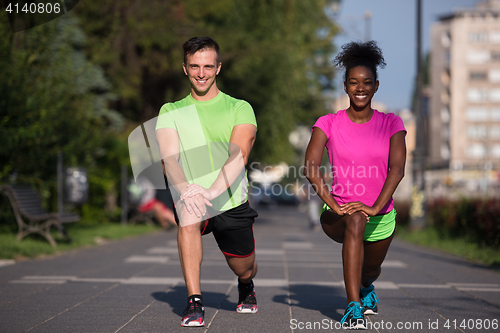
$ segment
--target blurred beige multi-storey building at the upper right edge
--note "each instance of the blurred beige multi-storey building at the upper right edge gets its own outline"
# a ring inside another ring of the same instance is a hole
[[[500,0],[443,16],[431,29],[428,162],[500,168]]]

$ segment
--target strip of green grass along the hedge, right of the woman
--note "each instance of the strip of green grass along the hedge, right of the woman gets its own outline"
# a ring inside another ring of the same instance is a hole
[[[396,230],[396,237],[399,239],[442,250],[472,262],[500,269],[500,251],[498,248],[482,246],[465,237],[452,237],[433,227],[409,232],[407,227],[398,226]]]

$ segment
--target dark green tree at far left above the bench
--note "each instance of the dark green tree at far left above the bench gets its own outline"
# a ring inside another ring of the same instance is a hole
[[[85,35],[78,19],[70,13],[14,34],[3,15],[0,33],[5,36],[0,41],[0,179],[17,174],[18,182],[37,184],[46,197],[55,194],[62,151],[67,166],[89,169],[91,204],[102,207],[99,192],[111,191],[119,179],[119,171],[109,170],[127,156],[126,145],[116,138],[124,119],[108,109],[111,86],[82,51]],[[103,174],[111,175],[106,184],[99,178]]]

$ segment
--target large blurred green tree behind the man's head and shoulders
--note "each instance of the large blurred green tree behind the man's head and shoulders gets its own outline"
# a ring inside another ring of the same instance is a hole
[[[249,101],[259,132],[252,160],[290,162],[288,134],[325,114],[329,58],[337,27],[325,14],[333,0],[103,0],[76,11],[89,36],[87,52],[116,87],[115,108],[127,118],[155,117],[185,97],[181,45],[193,36],[221,46],[220,88]],[[320,84],[322,82],[323,84]]]

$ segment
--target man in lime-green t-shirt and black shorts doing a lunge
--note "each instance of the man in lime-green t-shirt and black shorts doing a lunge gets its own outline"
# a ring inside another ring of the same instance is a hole
[[[217,88],[219,46],[210,37],[184,43],[191,93],[162,106],[156,125],[163,170],[176,201],[179,257],[188,292],[182,326],[204,326],[201,236],[212,232],[238,276],[238,313],[257,312],[257,273],[245,166],[257,122],[250,104]]]

